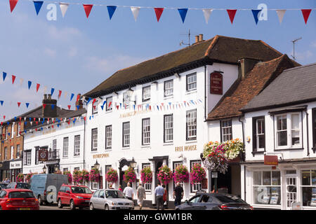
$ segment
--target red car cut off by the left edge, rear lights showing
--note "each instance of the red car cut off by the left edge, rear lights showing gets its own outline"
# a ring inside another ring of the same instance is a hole
[[[32,190],[0,190],[0,210],[39,210],[39,201]]]

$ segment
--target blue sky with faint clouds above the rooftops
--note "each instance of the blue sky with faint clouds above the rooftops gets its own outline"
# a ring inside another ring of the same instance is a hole
[[[268,8],[316,8],[314,0],[279,0],[279,1],[188,1],[188,0],[65,0],[68,3],[94,3],[113,6],[150,6],[174,8],[254,8],[265,3]],[[88,92],[118,69],[124,69],[146,59],[158,57],[173,50],[185,47],[183,35],[191,30],[191,43],[195,35],[204,34],[204,39],[215,35],[263,40],[273,48],[287,55],[292,54],[291,40],[302,37],[296,44],[296,59],[301,64],[316,62],[316,10],[312,10],[307,25],[301,10],[287,10],[282,25],[277,13],[268,10],[268,20],[254,22],[249,10],[239,10],[231,25],[225,10],[213,10],[206,24],[202,10],[189,10],[183,23],[178,10],[165,9],[159,22],[152,8],[141,8],[137,22],[133,19],[130,8],[118,7],[112,20],[109,19],[105,6],[94,6],[89,18],[86,18],[81,5],[70,5],[62,18],[58,6],[56,21],[48,21],[46,6],[51,1],[44,1],[39,12],[35,13],[32,1],[19,0],[10,12],[8,0],[0,2],[0,71],[8,76],[2,82],[0,77],[0,121],[18,116],[41,104],[44,86],[55,88],[62,97],[58,106],[67,109],[71,104],[74,109],[75,98],[70,102],[70,94]],[[12,85],[11,75],[16,76]],[[23,78],[20,86],[20,78]],[[32,81],[30,90],[27,81]],[[40,83],[36,93],[36,83]],[[65,98],[65,92],[68,92]],[[10,102],[12,104],[10,105]],[[17,102],[22,102],[18,108]],[[37,104],[37,105],[36,105]]]

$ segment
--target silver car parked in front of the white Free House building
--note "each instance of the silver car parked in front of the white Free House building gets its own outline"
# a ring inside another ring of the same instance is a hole
[[[96,190],[93,193],[90,204],[90,210],[105,209],[105,210],[119,210],[119,209],[134,209],[134,202],[128,200],[121,190],[105,189]]]

